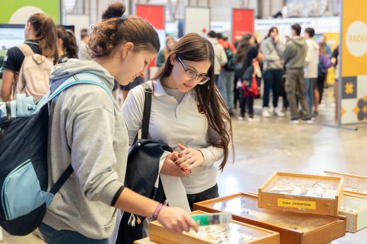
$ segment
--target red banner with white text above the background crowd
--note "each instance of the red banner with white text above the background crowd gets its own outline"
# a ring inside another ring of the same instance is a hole
[[[232,9],[232,41],[241,40],[248,33],[254,33],[254,10]]]

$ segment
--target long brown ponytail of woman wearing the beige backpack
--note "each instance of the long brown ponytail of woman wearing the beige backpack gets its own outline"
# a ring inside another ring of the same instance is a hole
[[[59,62],[57,51],[57,34],[54,20],[42,13],[33,14],[27,21],[33,26],[34,34],[38,41],[41,54],[48,58],[54,58],[54,64]]]

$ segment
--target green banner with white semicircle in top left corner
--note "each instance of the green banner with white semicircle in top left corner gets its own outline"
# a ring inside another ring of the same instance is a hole
[[[43,12],[59,24],[59,0],[0,0],[0,3],[0,23],[25,24],[32,14]]]

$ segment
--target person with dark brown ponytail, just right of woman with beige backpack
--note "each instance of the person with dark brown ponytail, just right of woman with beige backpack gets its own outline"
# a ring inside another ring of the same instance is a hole
[[[58,35],[59,64],[65,63],[69,59],[77,59],[78,47],[74,33],[60,25],[56,26],[56,31]]]

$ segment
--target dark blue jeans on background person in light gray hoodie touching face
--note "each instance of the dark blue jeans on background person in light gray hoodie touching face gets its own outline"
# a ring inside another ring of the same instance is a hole
[[[270,90],[273,91],[273,106],[278,106],[278,98],[282,87],[283,71],[280,69],[264,71],[264,96],[263,107],[269,106]]]

